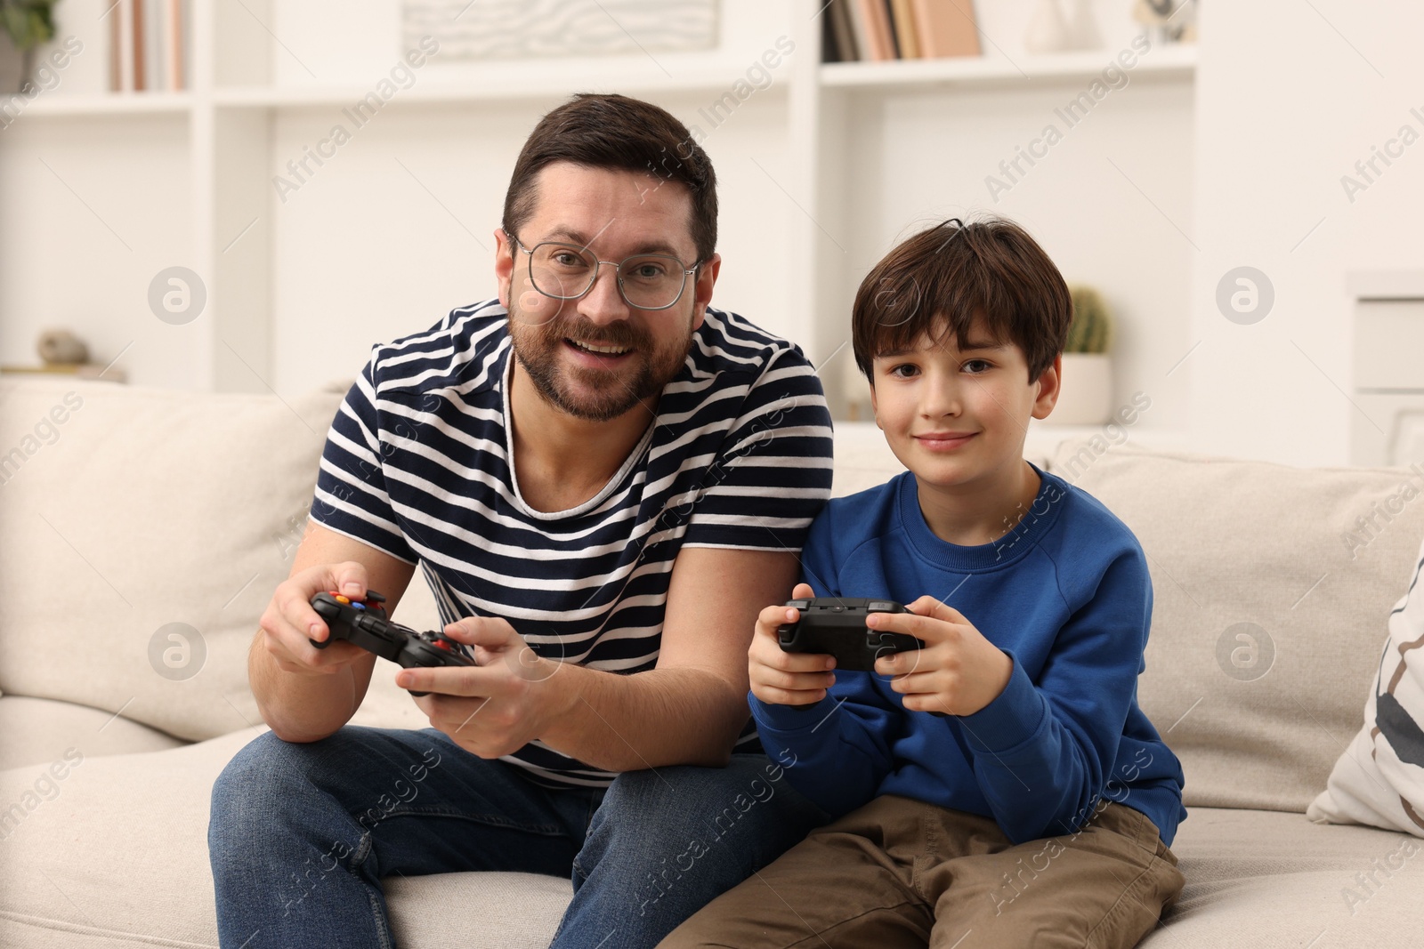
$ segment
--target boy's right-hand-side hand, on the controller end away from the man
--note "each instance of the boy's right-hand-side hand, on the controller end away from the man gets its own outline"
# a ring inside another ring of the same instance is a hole
[[[906,709],[970,716],[998,699],[1014,672],[1012,659],[963,613],[933,596],[921,596],[907,609],[871,613],[866,620],[870,629],[924,640],[924,649],[876,660],[877,673],[893,676],[890,687],[904,696]]]

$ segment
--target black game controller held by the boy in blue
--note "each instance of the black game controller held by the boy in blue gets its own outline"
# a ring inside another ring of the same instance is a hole
[[[787,600],[787,606],[800,610],[795,623],[776,627],[776,642],[786,653],[823,653],[836,659],[836,672],[874,672],[881,656],[924,649],[924,640],[909,633],[891,633],[866,626],[870,613],[909,613],[894,600],[816,596],[813,599]],[[813,706],[790,706],[809,711]],[[930,714],[944,717],[943,711]]]

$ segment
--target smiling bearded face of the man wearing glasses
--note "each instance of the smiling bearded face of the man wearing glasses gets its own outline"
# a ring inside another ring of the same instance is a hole
[[[721,262],[713,256],[696,279],[688,276],[672,307],[642,310],[622,299],[612,266],[601,266],[594,287],[577,300],[544,296],[530,282],[525,250],[558,240],[612,263],[662,253],[691,267],[696,249],[686,186],[654,175],[554,162],[538,174],[535,196],[521,233],[496,232],[500,302],[510,312],[520,367],[545,401],[577,418],[608,421],[655,401],[682,370]]]

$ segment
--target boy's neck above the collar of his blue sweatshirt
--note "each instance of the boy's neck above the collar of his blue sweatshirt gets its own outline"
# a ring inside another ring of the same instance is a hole
[[[1022,458],[974,484],[944,488],[916,475],[920,514],[934,536],[958,546],[993,544],[1028,512],[1042,478]]]

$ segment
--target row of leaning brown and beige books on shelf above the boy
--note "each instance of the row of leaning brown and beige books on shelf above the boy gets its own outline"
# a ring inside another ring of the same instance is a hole
[[[830,0],[824,61],[980,55],[973,0]]]

